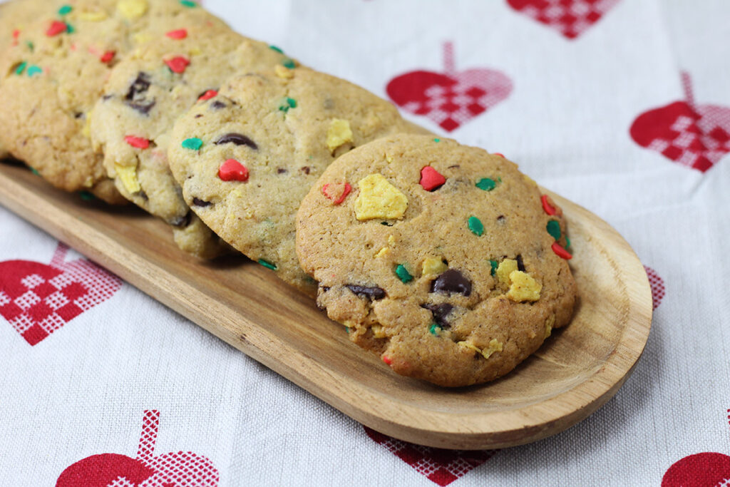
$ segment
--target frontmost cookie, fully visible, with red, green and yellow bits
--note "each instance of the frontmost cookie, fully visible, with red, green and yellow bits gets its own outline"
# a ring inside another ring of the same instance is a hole
[[[326,169],[297,213],[296,250],[318,305],[393,371],[484,383],[571,318],[566,222],[545,202],[551,214],[501,156],[398,135]]]

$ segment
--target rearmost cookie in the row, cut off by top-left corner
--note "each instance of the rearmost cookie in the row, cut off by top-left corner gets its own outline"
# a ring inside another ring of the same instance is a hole
[[[1,57],[1,142],[58,188],[123,200],[88,139],[110,69],[134,45],[193,23],[223,26],[194,2],[46,1]]]

